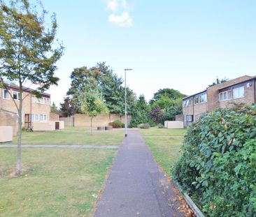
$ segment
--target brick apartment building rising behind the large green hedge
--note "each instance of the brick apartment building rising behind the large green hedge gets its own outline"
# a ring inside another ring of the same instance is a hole
[[[204,112],[212,112],[219,107],[255,103],[255,89],[256,77],[244,75],[183,98],[184,126],[190,126]]]

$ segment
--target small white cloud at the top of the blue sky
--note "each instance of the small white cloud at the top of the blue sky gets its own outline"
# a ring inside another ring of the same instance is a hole
[[[106,0],[108,10],[112,14],[108,16],[108,21],[120,27],[131,27],[132,18],[129,15],[127,0]]]

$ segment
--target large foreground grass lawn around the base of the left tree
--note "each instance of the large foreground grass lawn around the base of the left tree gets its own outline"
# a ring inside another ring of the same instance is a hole
[[[63,133],[64,135],[64,133]],[[90,216],[116,150],[0,149],[0,216]]]

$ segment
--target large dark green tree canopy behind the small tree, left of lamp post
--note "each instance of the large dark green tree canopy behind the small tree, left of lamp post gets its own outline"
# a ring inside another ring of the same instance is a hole
[[[99,62],[92,68],[87,68],[86,66],[75,68],[71,73],[71,88],[67,94],[71,96],[81,112],[79,96],[91,85],[92,89],[99,91],[109,112],[122,115],[125,114],[125,88],[122,84],[122,78],[113,73],[110,66],[106,65],[106,62]],[[131,113],[135,101],[135,93],[127,88],[128,114]]]

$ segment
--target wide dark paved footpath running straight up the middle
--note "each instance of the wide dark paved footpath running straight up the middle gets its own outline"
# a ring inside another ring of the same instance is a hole
[[[129,130],[97,203],[94,217],[184,216],[138,130]]]

